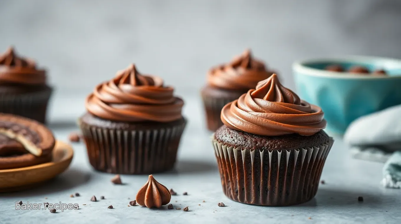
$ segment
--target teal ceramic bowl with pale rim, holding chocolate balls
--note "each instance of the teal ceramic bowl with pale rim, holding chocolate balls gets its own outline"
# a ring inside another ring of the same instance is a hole
[[[365,66],[369,71],[384,69],[387,76],[360,75],[324,70],[327,65]],[[343,134],[356,118],[401,104],[401,60],[351,56],[294,62],[297,93],[303,100],[320,106],[327,130]]]

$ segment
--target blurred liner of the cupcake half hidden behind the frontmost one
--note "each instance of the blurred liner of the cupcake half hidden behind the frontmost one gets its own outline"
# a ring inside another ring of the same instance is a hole
[[[210,96],[203,97],[203,104],[206,110],[207,128],[215,131],[223,125],[220,114],[221,109],[231,101],[237,100],[238,97],[233,98],[212,98]]]

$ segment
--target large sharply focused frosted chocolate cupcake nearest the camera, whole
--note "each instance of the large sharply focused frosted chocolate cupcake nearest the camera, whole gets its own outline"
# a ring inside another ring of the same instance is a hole
[[[322,110],[277,76],[225,105],[213,134],[223,192],[237,202],[288,206],[312,199],[333,139]]]

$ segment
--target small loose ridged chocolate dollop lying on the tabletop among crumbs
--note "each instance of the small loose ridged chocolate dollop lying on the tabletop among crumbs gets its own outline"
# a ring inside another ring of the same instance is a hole
[[[153,175],[149,175],[148,182],[136,194],[136,203],[148,208],[160,208],[162,205],[168,204],[170,200],[170,191],[166,186],[157,182]]]

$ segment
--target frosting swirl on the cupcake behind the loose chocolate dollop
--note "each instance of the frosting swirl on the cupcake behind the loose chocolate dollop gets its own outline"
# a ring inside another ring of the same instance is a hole
[[[182,118],[184,102],[157,76],[142,75],[135,65],[96,86],[86,98],[89,113],[106,120],[170,122]]]

